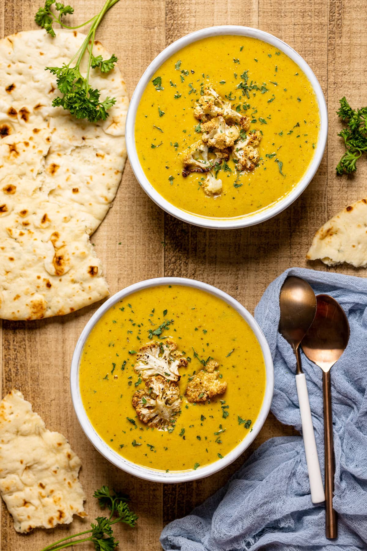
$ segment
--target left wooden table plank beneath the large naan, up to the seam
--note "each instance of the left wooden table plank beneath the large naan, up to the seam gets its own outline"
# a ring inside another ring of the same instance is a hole
[[[40,0],[10,0],[0,12],[3,34],[36,28],[34,14]],[[102,0],[76,0],[72,3],[74,24],[88,19],[103,5]],[[108,13],[98,39],[119,59],[129,94],[147,64],[165,47],[165,2],[157,0],[154,9],[149,0],[119,2]],[[158,30],[158,31],[157,31]],[[127,163],[117,197],[105,221],[92,236],[101,258],[111,293],[142,279],[163,275],[163,213],[141,190]],[[28,536],[16,534],[13,520],[3,505],[1,542],[4,551],[37,551],[64,533],[83,530],[99,513],[92,493],[102,484],[130,494],[132,508],[139,515],[139,527],[126,530],[116,527],[116,536],[127,551],[160,549],[162,528],[162,487],[119,471],[90,444],[81,430],[72,407],[69,369],[76,340],[86,321],[99,304],[63,318],[37,322],[4,322],[3,388],[20,388],[50,430],[68,437],[81,458],[80,480],[87,501],[87,520],[75,519],[72,526],[55,530],[36,530]],[[141,495],[145,499],[141,499]],[[152,509],[151,504],[155,507]],[[80,551],[90,549],[81,545]]]

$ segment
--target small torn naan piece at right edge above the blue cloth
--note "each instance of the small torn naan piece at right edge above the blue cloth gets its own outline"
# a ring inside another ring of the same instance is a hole
[[[342,262],[356,268],[367,266],[367,198],[328,220],[316,232],[306,258],[320,259],[328,266]]]

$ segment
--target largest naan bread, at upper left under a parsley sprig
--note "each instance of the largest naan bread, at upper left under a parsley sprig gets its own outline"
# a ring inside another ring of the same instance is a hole
[[[91,69],[101,99],[117,102],[106,121],[78,121],[51,106],[59,92],[45,71],[68,63],[84,38],[37,30],[0,41],[0,318],[69,314],[108,294],[89,235],[124,168],[127,90],[117,67]],[[111,57],[100,42],[93,53]]]

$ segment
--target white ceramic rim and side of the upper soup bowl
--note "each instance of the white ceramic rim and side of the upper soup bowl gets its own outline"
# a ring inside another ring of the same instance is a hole
[[[297,186],[293,188],[291,192],[288,193],[283,199],[273,204],[271,207],[267,207],[264,210],[261,210],[254,214],[248,214],[241,217],[235,218],[210,218],[193,213],[189,213],[186,210],[182,210],[178,207],[175,207],[172,203],[169,203],[165,198],[163,198],[160,193],[151,185],[149,180],[144,174],[143,168],[141,168],[140,161],[138,158],[138,153],[136,152],[135,146],[135,117],[136,110],[143,95],[143,92],[149,84],[152,75],[157,71],[157,69],[164,63],[169,57],[174,53],[182,50],[183,47],[201,40],[208,36],[216,35],[240,35],[240,36],[250,36],[257,39],[260,39],[272,46],[276,46],[278,50],[286,53],[291,60],[295,61],[298,66],[305,73],[306,77],[309,79],[311,86],[314,89],[317,103],[320,110],[320,133],[319,138],[317,139],[316,149],[314,153],[314,158],[311,161],[308,170],[305,172],[302,180],[299,181]],[[166,210],[169,214],[172,214],[174,217],[188,222],[189,224],[194,224],[196,226],[202,226],[203,228],[216,228],[216,229],[231,229],[231,228],[244,228],[245,226],[253,226],[268,220],[273,216],[282,212],[282,210],[289,207],[290,204],[297,199],[297,197],[305,190],[309,185],[310,181],[313,179],[317,168],[321,163],[322,155],[324,155],[326,139],[327,139],[327,107],[322,93],[319,81],[315,77],[313,71],[304,61],[304,59],[297,53],[291,46],[288,46],[286,42],[278,39],[276,36],[273,36],[265,31],[259,29],[253,29],[251,27],[243,27],[239,25],[223,25],[217,27],[209,27],[207,29],[201,29],[191,33],[189,35],[183,36],[173,44],[169,45],[165,50],[163,50],[156,58],[151,62],[149,67],[147,67],[143,76],[139,80],[138,85],[135,88],[132,100],[130,101],[130,106],[128,110],[127,120],[126,120],[126,147],[132,165],[136,179],[140,183],[143,190],[149,195],[153,201],[160,206],[163,210]]]

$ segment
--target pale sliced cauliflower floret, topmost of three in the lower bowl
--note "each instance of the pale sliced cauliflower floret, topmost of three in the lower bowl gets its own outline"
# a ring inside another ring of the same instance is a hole
[[[183,358],[173,341],[150,342],[139,348],[134,369],[143,381],[152,375],[161,375],[169,381],[179,381],[179,368],[187,367],[187,359]]]

